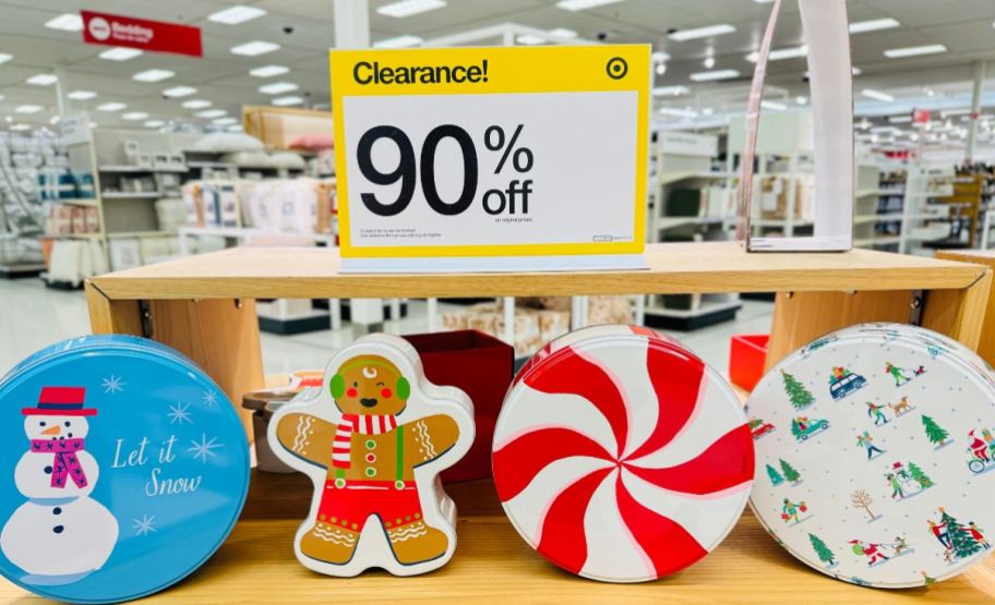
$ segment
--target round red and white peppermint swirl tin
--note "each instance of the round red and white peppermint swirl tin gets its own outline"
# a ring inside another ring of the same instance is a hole
[[[516,377],[494,481],[525,540],[584,577],[673,573],[722,541],[753,480],[753,439],[724,380],[676,341],[603,326],[552,342]]]

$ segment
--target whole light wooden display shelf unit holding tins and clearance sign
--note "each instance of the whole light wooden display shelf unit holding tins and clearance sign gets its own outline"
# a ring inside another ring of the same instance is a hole
[[[924,327],[978,349],[984,343],[983,326],[995,319],[988,305],[995,258],[979,265],[867,250],[747,254],[734,243],[712,242],[649,244],[647,261],[649,268],[636,271],[357,275],[339,273],[334,250],[243,247],[95,277],[87,281],[86,293],[95,332],[145,335],[175,347],[235,400],[264,385],[255,298],[775,291],[779,294],[768,365],[819,335],[867,320],[918,317]],[[196,574],[152,601],[290,603],[338,590],[348,591],[353,601],[420,597],[446,603],[503,603],[510,597],[899,603],[909,597],[908,591],[870,593],[812,571],[781,550],[748,512],[714,554],[674,577],[631,586],[582,580],[528,548],[502,515],[488,482],[449,487],[459,507],[459,547],[442,570],[406,579],[382,572],[351,580],[324,578],[301,567],[291,548],[310,489],[301,475],[255,474],[242,519],[220,552]],[[990,602],[995,598],[995,562],[915,594],[930,602]],[[3,584],[0,595],[23,593]]]

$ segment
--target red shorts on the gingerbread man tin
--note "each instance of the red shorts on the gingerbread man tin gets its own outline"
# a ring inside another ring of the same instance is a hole
[[[393,481],[349,481],[336,487],[335,480],[325,481],[317,520],[361,531],[371,515],[376,515],[385,528],[404,525],[421,519],[421,501],[413,481],[403,482],[399,488]]]

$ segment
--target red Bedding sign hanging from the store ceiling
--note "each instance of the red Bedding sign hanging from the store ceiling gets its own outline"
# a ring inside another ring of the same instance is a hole
[[[204,55],[200,27],[92,11],[80,11],[80,14],[83,16],[83,41],[86,44],[127,46],[191,57]]]

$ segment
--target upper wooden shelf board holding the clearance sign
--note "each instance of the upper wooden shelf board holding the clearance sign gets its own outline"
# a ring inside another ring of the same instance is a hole
[[[112,300],[429,298],[960,289],[984,268],[854,250],[751,253],[733,242],[648,244],[646,270],[339,273],[337,250],[239,247],[92,279]]]

